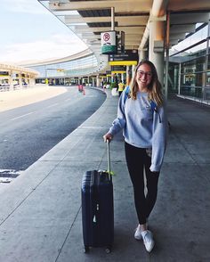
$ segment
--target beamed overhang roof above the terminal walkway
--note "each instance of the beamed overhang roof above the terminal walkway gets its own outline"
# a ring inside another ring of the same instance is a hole
[[[145,49],[149,22],[166,20],[170,13],[169,46],[176,45],[197,23],[209,21],[209,0],[40,0],[55,16],[85,41],[93,53],[101,53],[101,32],[111,29],[114,7],[115,30],[125,32],[125,49]],[[77,12],[74,12],[77,11]]]

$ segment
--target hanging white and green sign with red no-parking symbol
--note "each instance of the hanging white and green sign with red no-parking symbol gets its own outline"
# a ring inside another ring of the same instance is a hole
[[[116,31],[101,33],[101,53],[102,54],[117,53]]]

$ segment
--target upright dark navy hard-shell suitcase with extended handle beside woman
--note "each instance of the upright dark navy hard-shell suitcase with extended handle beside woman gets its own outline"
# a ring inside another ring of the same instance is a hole
[[[82,221],[85,252],[105,247],[109,253],[114,241],[113,184],[108,171],[86,171],[82,180]]]

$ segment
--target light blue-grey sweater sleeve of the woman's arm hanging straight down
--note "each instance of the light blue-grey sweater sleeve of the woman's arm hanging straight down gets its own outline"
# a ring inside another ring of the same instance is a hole
[[[150,171],[159,172],[164,160],[166,151],[168,121],[166,116],[166,103],[154,111],[153,136],[152,136],[152,157]]]

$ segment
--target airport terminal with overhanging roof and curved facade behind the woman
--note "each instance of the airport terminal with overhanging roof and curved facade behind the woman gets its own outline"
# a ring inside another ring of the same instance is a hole
[[[53,61],[20,65],[39,72],[36,83],[102,86],[123,80],[128,84],[138,61],[149,59],[158,69],[166,96],[178,94],[209,103],[209,1],[39,2],[87,49]],[[101,39],[113,32],[115,48],[104,52]]]

